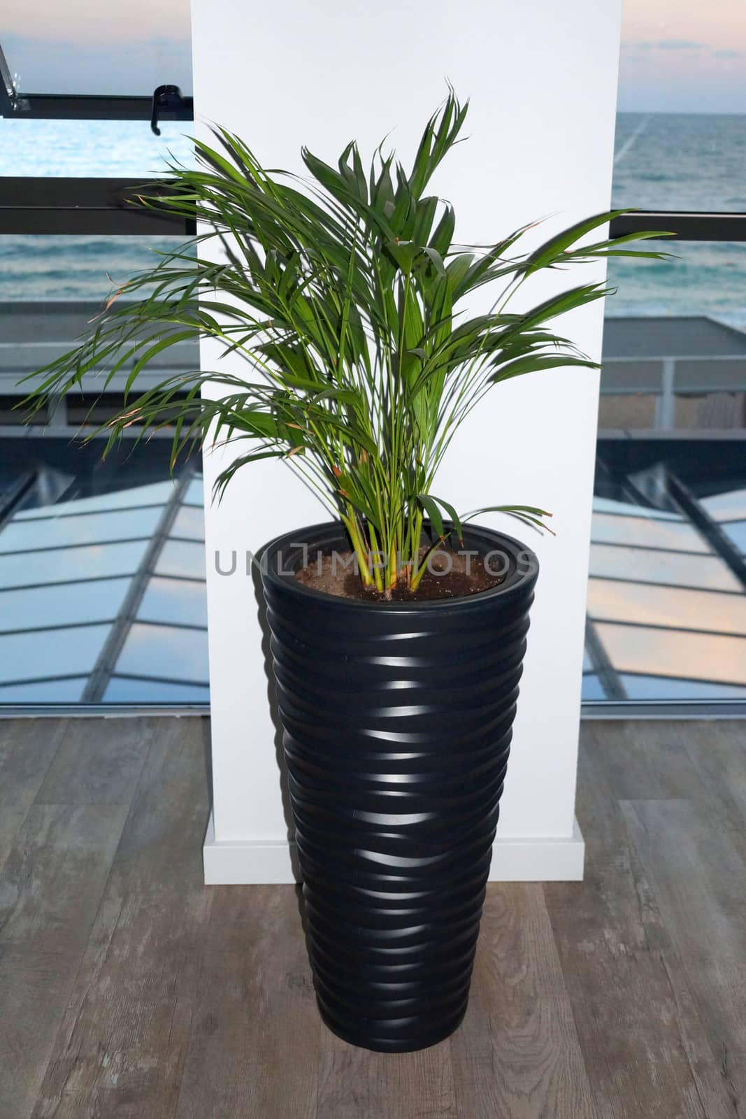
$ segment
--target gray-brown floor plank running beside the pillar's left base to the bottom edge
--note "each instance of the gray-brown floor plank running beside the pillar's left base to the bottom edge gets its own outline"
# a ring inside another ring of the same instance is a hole
[[[204,749],[200,720],[158,721],[35,1119],[174,1115],[213,900]]]

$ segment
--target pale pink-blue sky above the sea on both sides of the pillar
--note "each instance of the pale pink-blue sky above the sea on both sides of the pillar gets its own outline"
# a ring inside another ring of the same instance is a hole
[[[0,0],[0,44],[29,93],[191,92],[189,0]],[[624,0],[620,109],[746,113],[746,0]]]

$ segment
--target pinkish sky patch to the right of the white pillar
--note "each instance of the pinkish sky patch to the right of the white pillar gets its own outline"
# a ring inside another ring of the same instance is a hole
[[[618,107],[746,113],[746,0],[624,0]]]

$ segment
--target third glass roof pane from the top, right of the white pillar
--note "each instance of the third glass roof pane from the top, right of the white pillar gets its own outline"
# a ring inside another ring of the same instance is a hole
[[[606,579],[691,586],[695,590],[742,590],[736,576],[717,556],[655,552],[608,544],[591,546],[591,574]]]

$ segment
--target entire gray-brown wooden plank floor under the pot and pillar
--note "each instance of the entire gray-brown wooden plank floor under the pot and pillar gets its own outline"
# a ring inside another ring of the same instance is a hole
[[[586,724],[585,882],[492,885],[404,1056],[320,1024],[292,886],[202,886],[206,734],[0,722],[2,1119],[746,1117],[746,724]]]

